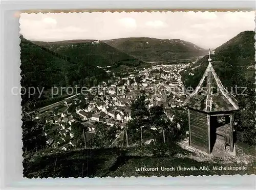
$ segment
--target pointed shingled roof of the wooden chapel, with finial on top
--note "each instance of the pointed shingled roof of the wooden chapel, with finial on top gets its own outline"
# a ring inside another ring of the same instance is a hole
[[[238,101],[223,87],[211,65],[210,51],[208,61],[203,77],[183,106],[207,113],[239,110]]]

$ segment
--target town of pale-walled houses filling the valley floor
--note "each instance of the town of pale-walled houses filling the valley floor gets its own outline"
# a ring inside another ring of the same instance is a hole
[[[151,69],[144,68],[136,76],[131,74],[126,78],[116,79],[109,87],[105,83],[99,85],[100,91],[93,95],[93,98],[85,97],[89,105],[80,107],[77,102],[74,113],[68,112],[68,107],[74,104],[74,101],[67,100],[56,108],[53,117],[47,121],[54,124],[54,127],[45,133],[45,135],[51,136],[48,144],[62,150],[75,146],[72,132],[72,125],[76,123],[74,115],[80,117],[83,120],[81,124],[89,129],[86,132],[88,140],[95,133],[96,122],[105,123],[109,127],[115,125],[121,129],[124,128],[126,123],[132,119],[132,102],[142,93],[147,95],[148,107],[162,105],[167,117],[173,120],[175,116],[170,109],[179,107],[185,99],[179,75],[185,67],[186,65],[161,65]],[[138,80],[136,77],[140,79]],[[124,83],[120,84],[120,80]],[[176,93],[174,89],[180,89],[180,91]]]

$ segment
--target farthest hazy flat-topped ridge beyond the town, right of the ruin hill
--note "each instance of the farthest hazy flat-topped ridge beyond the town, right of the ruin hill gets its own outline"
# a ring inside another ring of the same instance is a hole
[[[207,50],[180,39],[119,38],[103,40],[142,61],[169,61],[204,56]]]

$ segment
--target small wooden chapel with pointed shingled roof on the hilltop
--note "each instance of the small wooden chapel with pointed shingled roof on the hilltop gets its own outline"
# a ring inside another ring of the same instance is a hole
[[[216,139],[233,152],[233,113],[239,110],[238,102],[223,87],[211,65],[210,51],[206,68],[196,89],[183,105],[188,108],[189,146],[211,153]]]

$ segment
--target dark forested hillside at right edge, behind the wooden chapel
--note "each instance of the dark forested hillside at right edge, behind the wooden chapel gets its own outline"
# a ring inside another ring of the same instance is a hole
[[[256,144],[254,35],[253,31],[242,32],[216,48],[215,55],[211,55],[212,66],[223,86],[239,102],[240,111],[235,115],[238,121],[237,138],[248,144]],[[183,73],[186,87],[195,89],[208,65],[207,59],[208,56],[205,56]],[[246,91],[243,92],[245,88]]]

